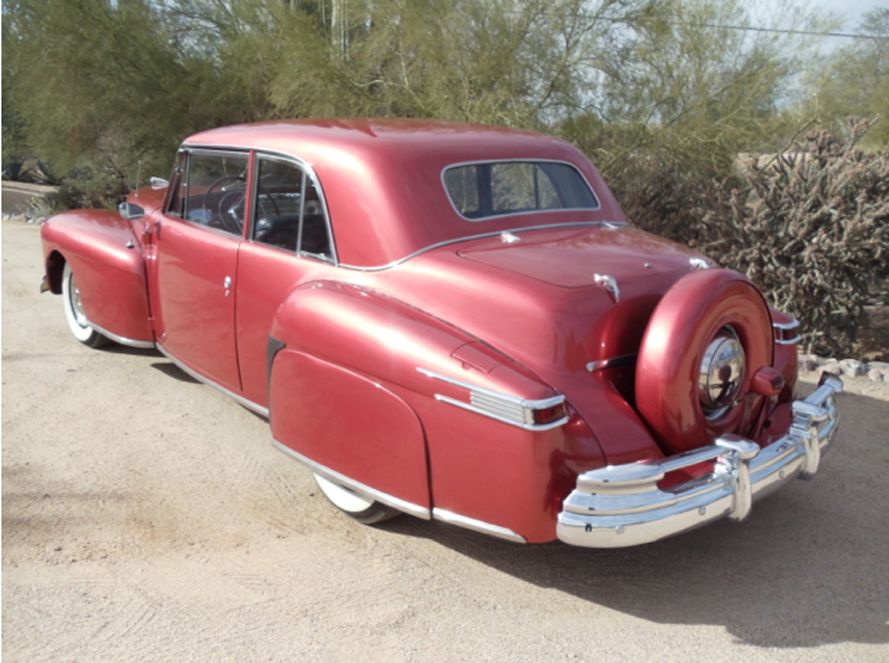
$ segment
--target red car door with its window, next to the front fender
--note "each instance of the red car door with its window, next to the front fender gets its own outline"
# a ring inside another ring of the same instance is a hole
[[[149,275],[159,348],[236,394],[235,281],[249,162],[247,152],[181,153],[179,181],[153,228]]]

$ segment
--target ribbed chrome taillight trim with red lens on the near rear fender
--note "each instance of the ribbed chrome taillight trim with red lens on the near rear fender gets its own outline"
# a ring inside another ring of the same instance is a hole
[[[529,411],[543,410],[564,403],[565,396],[562,394],[550,396],[549,398],[526,399],[513,396],[512,394],[504,394],[498,391],[485,389],[484,387],[479,387],[469,382],[463,382],[462,380],[435,373],[421,366],[417,366],[417,371],[433,380],[440,380],[441,382],[446,382],[469,391],[469,402],[460,401],[450,396],[445,396],[444,394],[435,394],[435,400],[437,401],[454,405],[464,410],[469,410],[470,412],[475,412],[476,414],[490,417],[491,419],[529,431],[550,430],[568,423],[567,414],[564,417],[547,424],[535,424],[533,420],[528,421],[526,417],[526,413]],[[488,399],[494,399],[494,402]]]

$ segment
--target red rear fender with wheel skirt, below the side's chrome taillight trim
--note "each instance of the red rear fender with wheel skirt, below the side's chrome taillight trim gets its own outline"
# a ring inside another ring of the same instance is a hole
[[[525,399],[556,392],[478,339],[374,291],[304,285],[278,309],[271,336],[274,438],[433,517],[551,540],[573,468],[601,462],[570,408],[568,424],[536,431],[443,402],[467,402],[468,390],[431,375]]]

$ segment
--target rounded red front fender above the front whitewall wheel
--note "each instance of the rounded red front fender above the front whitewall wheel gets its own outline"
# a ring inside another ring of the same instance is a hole
[[[67,262],[90,324],[120,339],[153,341],[145,263],[129,221],[108,210],[74,210],[48,219],[40,235],[53,293],[62,292]]]

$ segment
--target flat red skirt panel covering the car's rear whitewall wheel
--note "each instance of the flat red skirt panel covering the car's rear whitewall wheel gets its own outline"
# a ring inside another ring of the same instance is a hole
[[[366,497],[367,507],[382,502],[428,517],[425,430],[399,391],[381,378],[303,350],[278,349],[269,383],[272,437],[317,475]],[[362,522],[379,522],[384,515],[378,509],[346,508],[335,494],[324,494]]]

